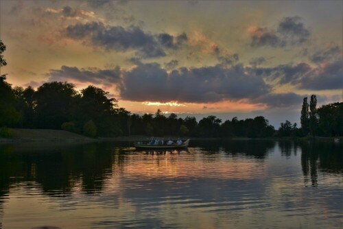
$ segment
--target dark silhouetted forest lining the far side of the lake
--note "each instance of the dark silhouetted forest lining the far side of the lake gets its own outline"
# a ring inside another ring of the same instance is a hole
[[[7,63],[0,41],[0,67]],[[85,136],[194,136],[194,137],[289,137],[342,136],[343,103],[336,102],[317,108],[316,95],[303,100],[300,121],[285,121],[278,130],[263,116],[254,119],[222,121],[213,115],[197,121],[195,117],[182,119],[161,110],[154,114],[132,114],[119,108],[108,92],[88,86],[77,91],[69,82],[46,82],[37,89],[15,86],[0,75],[0,136],[10,136],[8,128],[67,130]]]

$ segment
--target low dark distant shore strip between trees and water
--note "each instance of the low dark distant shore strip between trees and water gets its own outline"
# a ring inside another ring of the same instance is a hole
[[[1,138],[0,143],[25,143],[25,142],[43,142],[43,143],[89,143],[100,141],[148,141],[151,136],[131,135],[131,136],[117,136],[117,137],[99,137],[89,138],[80,134],[67,132],[65,130],[41,130],[41,129],[10,129],[13,132],[12,138]],[[164,136],[156,138],[178,138],[179,136]],[[259,140],[259,141],[303,141],[303,140],[319,140],[319,141],[333,141],[334,138],[340,138],[343,142],[343,137],[275,137],[275,138],[199,138],[199,137],[182,137],[182,139],[190,138],[191,140]]]

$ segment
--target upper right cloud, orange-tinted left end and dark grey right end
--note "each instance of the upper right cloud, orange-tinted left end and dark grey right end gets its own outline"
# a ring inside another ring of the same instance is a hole
[[[279,27],[276,29],[268,29],[267,27],[249,27],[252,47],[285,47],[286,45],[300,45],[305,43],[310,31],[301,22],[299,16],[288,16],[280,21]]]

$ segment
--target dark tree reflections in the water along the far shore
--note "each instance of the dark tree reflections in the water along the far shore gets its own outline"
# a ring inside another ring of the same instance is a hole
[[[106,179],[120,172],[126,165],[126,155],[132,154],[131,143],[89,143],[84,145],[32,144],[0,145],[0,204],[10,186],[36,182],[43,193],[63,197],[73,189],[87,195],[102,192]],[[281,156],[296,156],[301,151],[301,166],[305,185],[318,185],[318,169],[329,173],[343,173],[342,143],[318,141],[281,141]],[[191,141],[189,150],[152,150],[139,154],[169,155],[226,154],[264,159],[276,147],[275,141]],[[137,152],[136,152],[137,153]]]

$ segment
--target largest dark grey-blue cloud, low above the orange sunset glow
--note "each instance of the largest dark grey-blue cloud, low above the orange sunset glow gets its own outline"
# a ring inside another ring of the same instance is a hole
[[[180,68],[168,74],[150,63],[124,73],[120,95],[131,101],[214,102],[259,97],[269,90],[261,77],[247,75],[239,64],[230,69]]]

